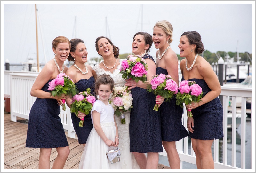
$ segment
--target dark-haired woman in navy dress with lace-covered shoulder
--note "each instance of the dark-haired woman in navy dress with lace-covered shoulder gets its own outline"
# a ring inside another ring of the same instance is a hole
[[[146,32],[138,32],[133,36],[132,53],[143,57],[148,65],[147,80],[156,75],[155,60],[148,54],[153,43],[152,36]],[[128,81],[132,82],[132,80]],[[141,169],[156,169],[158,152],[163,152],[161,141],[160,112],[154,111],[156,103],[164,99],[156,98],[147,92],[147,84],[139,81],[132,88],[132,105],[130,118],[130,150],[134,154]],[[147,156],[144,154],[147,153]]]

